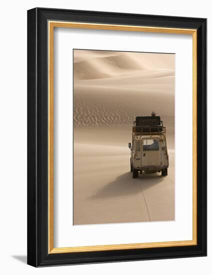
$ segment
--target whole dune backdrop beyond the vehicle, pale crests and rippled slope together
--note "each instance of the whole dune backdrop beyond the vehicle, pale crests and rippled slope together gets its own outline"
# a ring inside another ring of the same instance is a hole
[[[74,126],[131,125],[135,116],[152,110],[174,125],[174,70],[163,67],[167,54],[76,52],[83,61],[74,63]]]

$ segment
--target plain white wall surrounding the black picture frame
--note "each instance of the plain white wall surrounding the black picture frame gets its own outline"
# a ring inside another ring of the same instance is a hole
[[[210,274],[212,187],[208,174],[208,256],[34,268],[26,265],[26,10],[35,6],[208,18],[208,118],[211,104],[212,13],[208,0],[7,0],[0,30],[0,272],[2,274]],[[209,121],[209,119],[208,119]],[[210,121],[209,121],[210,122]],[[208,122],[208,124],[209,124]],[[208,129],[208,140],[212,138]],[[212,164],[208,142],[208,169]]]

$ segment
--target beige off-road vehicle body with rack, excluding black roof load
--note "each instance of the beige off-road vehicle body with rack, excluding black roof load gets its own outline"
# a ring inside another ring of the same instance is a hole
[[[130,170],[132,177],[140,173],[161,172],[167,175],[168,154],[166,146],[165,127],[159,126],[134,126],[132,127],[132,144],[129,143],[131,150]]]

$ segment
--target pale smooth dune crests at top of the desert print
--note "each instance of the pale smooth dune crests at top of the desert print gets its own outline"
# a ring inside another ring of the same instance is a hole
[[[80,54],[83,57],[79,57]],[[75,56],[76,55],[76,56]],[[89,56],[86,58],[86,55]],[[164,54],[163,54],[164,55]],[[147,60],[145,54],[140,58],[140,53],[112,52],[109,51],[74,51],[73,75],[75,80],[109,78],[115,76],[137,75],[145,77],[161,77],[174,74],[173,68],[158,68],[155,57],[149,54]],[[153,58],[153,60],[151,60]],[[161,57],[160,57],[161,58]],[[165,60],[165,55],[163,56]],[[163,60],[163,62],[164,62]],[[139,76],[139,77],[140,77]]]

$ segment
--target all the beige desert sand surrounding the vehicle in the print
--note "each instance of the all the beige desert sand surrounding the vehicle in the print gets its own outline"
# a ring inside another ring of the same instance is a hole
[[[74,50],[73,224],[174,219],[174,54]],[[132,179],[137,115],[167,127],[168,176]]]

